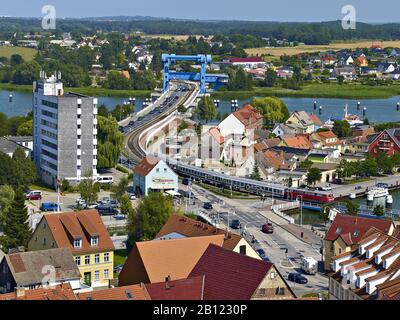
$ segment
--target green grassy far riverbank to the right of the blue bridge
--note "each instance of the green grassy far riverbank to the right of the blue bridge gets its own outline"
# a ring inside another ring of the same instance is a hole
[[[252,97],[276,96],[293,98],[337,98],[337,99],[387,99],[400,95],[400,85],[369,86],[355,84],[312,83],[300,90],[282,87],[255,87],[250,91],[218,91],[212,95],[215,99],[248,99]]]

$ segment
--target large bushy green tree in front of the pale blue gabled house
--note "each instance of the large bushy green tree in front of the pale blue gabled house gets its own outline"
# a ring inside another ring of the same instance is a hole
[[[127,232],[129,243],[154,239],[162,226],[174,212],[172,197],[160,192],[145,196],[128,215]]]

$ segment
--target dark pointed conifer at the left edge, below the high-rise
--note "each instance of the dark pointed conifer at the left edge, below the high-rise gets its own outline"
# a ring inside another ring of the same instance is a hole
[[[15,192],[14,200],[4,214],[1,225],[4,230],[1,245],[4,249],[28,245],[32,232],[29,228],[28,209],[25,206],[25,194],[22,189],[19,188]]]

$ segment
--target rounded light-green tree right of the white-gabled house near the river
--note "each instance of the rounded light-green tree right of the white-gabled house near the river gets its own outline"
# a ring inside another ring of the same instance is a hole
[[[269,126],[273,126],[277,122],[285,122],[289,118],[289,109],[278,98],[255,98],[251,104],[261,112]]]

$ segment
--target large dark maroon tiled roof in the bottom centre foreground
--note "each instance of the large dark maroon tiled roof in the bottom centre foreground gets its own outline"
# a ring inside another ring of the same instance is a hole
[[[272,266],[211,244],[189,277],[205,275],[204,300],[250,300]]]

